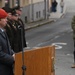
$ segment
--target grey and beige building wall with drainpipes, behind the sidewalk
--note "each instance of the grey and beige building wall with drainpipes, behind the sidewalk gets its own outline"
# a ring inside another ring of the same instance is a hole
[[[27,0],[25,3],[22,14],[25,23],[49,18],[51,0]]]

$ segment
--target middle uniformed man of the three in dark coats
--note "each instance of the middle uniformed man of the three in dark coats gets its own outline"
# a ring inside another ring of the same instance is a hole
[[[21,45],[21,41],[20,41],[20,29],[19,29],[19,24],[17,23],[18,21],[18,14],[16,13],[15,10],[12,10],[11,12],[12,14],[12,26],[13,26],[13,34],[14,34],[14,39],[13,39],[13,46],[12,46],[12,49],[14,50],[14,52],[20,52],[21,51],[21,48],[20,48],[20,45]]]

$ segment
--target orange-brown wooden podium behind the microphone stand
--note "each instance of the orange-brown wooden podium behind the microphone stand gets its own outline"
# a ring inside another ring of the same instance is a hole
[[[25,75],[55,75],[55,47],[39,47],[24,51]],[[15,75],[22,75],[22,52],[15,55]]]

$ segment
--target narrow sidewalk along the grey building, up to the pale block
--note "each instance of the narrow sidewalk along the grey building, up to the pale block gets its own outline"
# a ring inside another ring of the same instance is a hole
[[[51,23],[51,22],[54,22],[55,19],[59,19],[63,16],[63,14],[61,13],[50,13],[50,17],[49,19],[44,19],[44,20],[40,20],[40,21],[37,21],[37,22],[32,22],[32,23],[27,23],[25,24],[25,30],[28,30],[28,29],[31,29],[31,28],[34,28],[34,27],[38,27],[38,26],[41,26],[41,25],[45,25],[47,23]]]

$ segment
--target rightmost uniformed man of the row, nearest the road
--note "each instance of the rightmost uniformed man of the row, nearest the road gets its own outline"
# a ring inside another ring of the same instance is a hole
[[[20,25],[21,28],[22,28],[22,34],[23,34],[23,35],[21,35],[21,37],[23,37],[23,48],[25,48],[25,47],[27,47],[26,38],[25,38],[25,29],[24,29],[24,28],[25,28],[25,25],[24,25],[22,19],[20,18],[21,14],[22,14],[22,8],[21,8],[20,6],[16,6],[16,7],[14,7],[13,9],[14,9],[14,10],[16,11],[16,13],[19,15],[17,23],[18,23],[18,25]],[[21,32],[20,32],[20,34],[21,34]],[[21,37],[20,37],[20,38],[21,38]],[[21,39],[21,40],[22,40],[22,39]],[[20,47],[21,47],[21,49],[22,49],[22,41],[21,41]]]

